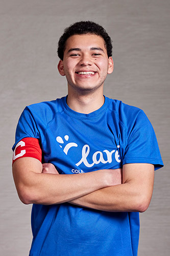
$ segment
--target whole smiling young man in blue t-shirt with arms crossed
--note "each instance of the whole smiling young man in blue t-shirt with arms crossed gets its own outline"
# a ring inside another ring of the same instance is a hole
[[[13,146],[19,198],[33,203],[30,256],[137,255],[138,212],[163,166],[152,125],[140,109],[103,96],[113,60],[100,25],[65,29],[58,55],[68,95],[28,106]]]

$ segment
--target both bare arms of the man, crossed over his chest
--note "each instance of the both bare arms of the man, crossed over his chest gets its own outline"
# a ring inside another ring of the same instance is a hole
[[[123,169],[59,175],[51,164],[23,157],[13,164],[13,177],[25,204],[72,204],[105,211],[145,211],[151,201],[154,166],[123,165]]]

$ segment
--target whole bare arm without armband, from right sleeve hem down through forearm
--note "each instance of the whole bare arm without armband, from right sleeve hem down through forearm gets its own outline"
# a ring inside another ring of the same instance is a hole
[[[70,203],[104,211],[143,212],[150,204],[153,184],[153,165],[127,164],[123,167],[123,184],[99,189]]]

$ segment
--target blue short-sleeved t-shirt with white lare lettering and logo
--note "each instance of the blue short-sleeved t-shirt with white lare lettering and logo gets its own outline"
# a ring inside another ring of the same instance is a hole
[[[71,110],[66,97],[27,106],[13,146],[40,140],[43,162],[60,174],[121,168],[127,163],[163,166],[153,127],[144,112],[105,97],[90,114]],[[106,212],[69,203],[33,205],[30,256],[135,256],[138,212]]]

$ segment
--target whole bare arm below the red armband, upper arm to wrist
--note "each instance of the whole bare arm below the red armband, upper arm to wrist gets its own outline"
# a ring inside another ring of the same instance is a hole
[[[28,171],[25,168],[29,168]],[[19,198],[23,203],[58,204],[68,202],[114,184],[113,175],[109,170],[75,175],[41,172],[42,164],[37,159],[22,158],[14,163],[13,176]]]

